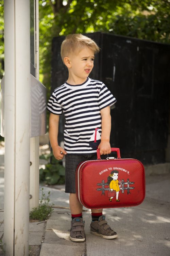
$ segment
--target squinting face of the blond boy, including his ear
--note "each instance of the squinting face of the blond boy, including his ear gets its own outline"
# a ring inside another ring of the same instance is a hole
[[[69,55],[69,76],[81,83],[85,82],[94,66],[94,52],[88,47],[83,48],[78,54]]]

